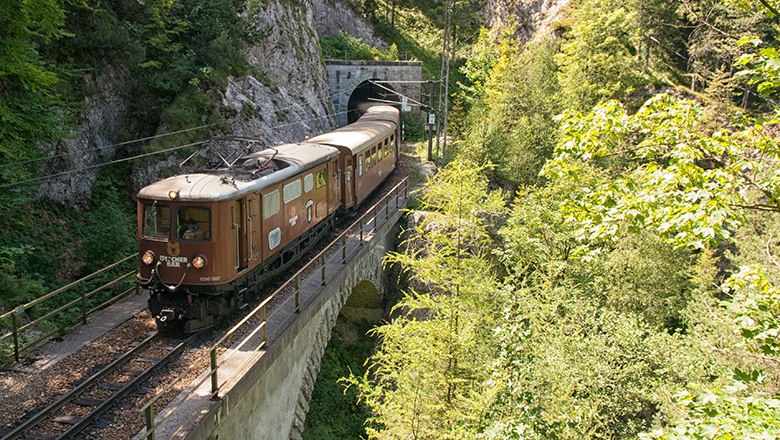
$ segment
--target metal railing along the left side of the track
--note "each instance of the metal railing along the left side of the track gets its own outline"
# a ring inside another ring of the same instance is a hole
[[[101,304],[98,304],[96,306],[90,306],[89,304],[90,300],[94,298],[96,295],[119,285],[124,280],[135,275],[135,269],[133,269],[131,272],[122,274],[89,292],[82,291],[78,294],[78,296],[72,295],[72,290],[75,287],[81,286],[87,281],[96,278],[98,275],[101,275],[112,269],[117,268],[118,266],[121,266],[123,263],[126,263],[129,260],[136,258],[137,256],[138,253],[125,257],[122,260],[117,261],[116,263],[106,266],[103,269],[93,272],[66,286],[53,290],[47,293],[46,295],[43,295],[40,298],[37,298],[26,304],[22,304],[14,308],[13,310],[0,315],[0,328],[11,329],[10,331],[7,331],[0,335],[0,347],[6,345],[7,341],[11,339],[14,348],[14,359],[16,360],[16,362],[19,362],[19,358],[22,356],[22,354],[27,353],[30,350],[38,347],[39,345],[47,341],[52,336],[57,334],[62,334],[62,332],[69,329],[70,327],[72,327],[78,322],[82,322],[86,324],[87,318],[90,315],[94,314],[99,310],[102,310],[105,307],[108,307],[109,305],[121,300],[122,298],[129,295],[131,292],[135,291],[135,283],[133,283],[133,285],[130,288],[124,290],[123,292],[117,295],[112,295],[111,298],[102,302]],[[58,305],[58,302],[61,301],[66,301],[66,303],[62,305]],[[27,315],[27,312],[29,312],[33,307],[42,306],[44,303],[49,304],[50,307],[54,307],[54,308],[46,312],[43,316],[39,316],[38,318],[32,321],[23,322],[23,318],[24,316]],[[78,308],[78,312],[73,314],[72,310],[76,308]],[[72,316],[67,317],[66,313],[70,313]],[[60,319],[63,317],[65,319]],[[43,324],[44,321],[49,321],[52,320],[53,318],[61,322],[56,326],[56,328],[47,332],[36,334],[35,336],[29,339],[22,338],[22,335],[25,331],[37,328],[40,324]]]

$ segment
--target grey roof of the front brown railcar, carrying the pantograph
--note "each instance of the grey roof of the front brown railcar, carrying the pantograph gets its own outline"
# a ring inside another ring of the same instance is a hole
[[[230,200],[273,186],[338,154],[336,148],[312,143],[279,145],[242,156],[230,168],[198,170],[152,183],[138,192],[138,198],[168,201],[168,194],[176,191],[178,201]]]

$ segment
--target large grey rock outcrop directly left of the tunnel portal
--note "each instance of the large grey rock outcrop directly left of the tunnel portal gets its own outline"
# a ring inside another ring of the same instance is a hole
[[[235,113],[230,134],[260,137],[268,146],[333,127],[312,8],[272,0],[252,21],[264,38],[246,58],[259,74],[229,80],[222,104]]]

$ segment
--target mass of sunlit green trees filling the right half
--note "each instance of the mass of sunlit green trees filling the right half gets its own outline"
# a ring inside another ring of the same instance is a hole
[[[459,159],[389,258],[416,282],[348,379],[370,438],[780,435],[776,6],[481,33]]]

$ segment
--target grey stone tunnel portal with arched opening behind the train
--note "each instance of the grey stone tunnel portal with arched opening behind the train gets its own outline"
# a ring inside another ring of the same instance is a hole
[[[366,98],[400,101],[397,95],[371,81],[388,81],[382,86],[420,101],[422,61],[325,60],[325,68],[330,99],[339,125],[357,119],[353,110],[356,110],[356,103]],[[417,107],[413,109],[419,111]]]

